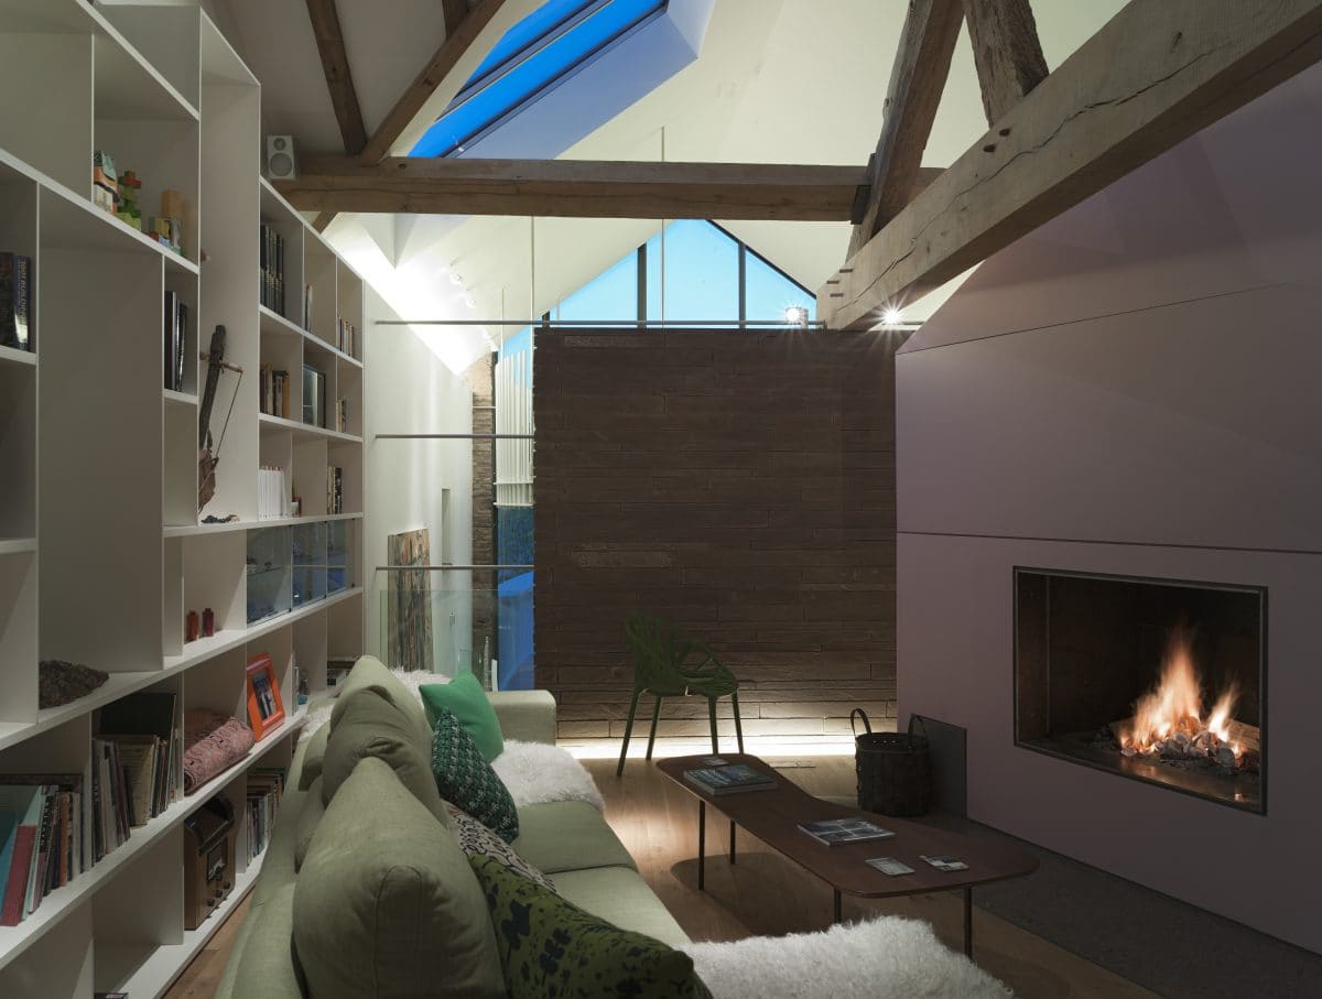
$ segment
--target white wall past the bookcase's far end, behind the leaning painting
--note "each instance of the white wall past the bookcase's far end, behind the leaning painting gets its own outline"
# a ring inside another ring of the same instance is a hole
[[[472,441],[378,440],[378,433],[469,433],[472,391],[408,326],[379,326],[375,320],[399,316],[370,285],[364,287],[366,332],[365,464],[366,522],[364,547],[368,587],[369,651],[382,651],[382,622],[389,574],[385,566],[386,535],[426,527],[431,534],[434,563],[468,564],[472,560]],[[443,551],[442,490],[449,490],[449,548]],[[447,576],[432,574],[434,588],[446,587]],[[451,580],[451,585],[457,580]],[[435,665],[452,673],[453,641],[447,608],[459,610],[453,632],[471,644],[472,614],[467,601],[453,600],[434,608]]]

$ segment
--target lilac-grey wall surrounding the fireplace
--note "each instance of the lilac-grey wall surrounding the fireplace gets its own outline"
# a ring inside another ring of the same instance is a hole
[[[1001,252],[902,350],[899,694],[993,826],[1322,953],[1322,71]],[[1014,747],[1011,568],[1269,588],[1268,814]],[[1227,863],[1237,851],[1252,858]]]

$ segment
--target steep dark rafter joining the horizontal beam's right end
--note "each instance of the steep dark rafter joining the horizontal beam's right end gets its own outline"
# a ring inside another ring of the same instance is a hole
[[[886,120],[869,163],[871,194],[850,240],[853,255],[903,209],[941,103],[960,37],[960,0],[914,0],[886,91]]]

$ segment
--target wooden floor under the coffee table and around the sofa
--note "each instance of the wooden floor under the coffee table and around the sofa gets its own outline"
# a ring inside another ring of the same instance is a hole
[[[789,780],[813,794],[847,796],[854,784],[853,757],[784,760]],[[832,918],[832,892],[810,875],[747,834],[739,836],[739,863],[731,867],[724,823],[709,823],[707,891],[697,891],[697,802],[661,777],[650,764],[631,760],[616,778],[615,761],[586,760],[607,801],[607,819],[633,855],[642,876],[694,940],[740,940],[747,936],[824,929]],[[247,912],[245,903],[212,938],[167,994],[167,999],[210,999]],[[846,920],[879,913],[932,924],[952,949],[962,946],[962,904],[957,895],[894,901],[845,899]],[[1040,937],[974,909],[974,959],[1009,984],[1021,999],[1140,999],[1154,996]]]

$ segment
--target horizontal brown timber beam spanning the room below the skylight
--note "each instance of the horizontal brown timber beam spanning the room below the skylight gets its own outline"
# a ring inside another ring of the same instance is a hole
[[[303,211],[845,221],[861,166],[304,157],[278,188]],[[925,177],[924,177],[925,178]]]

